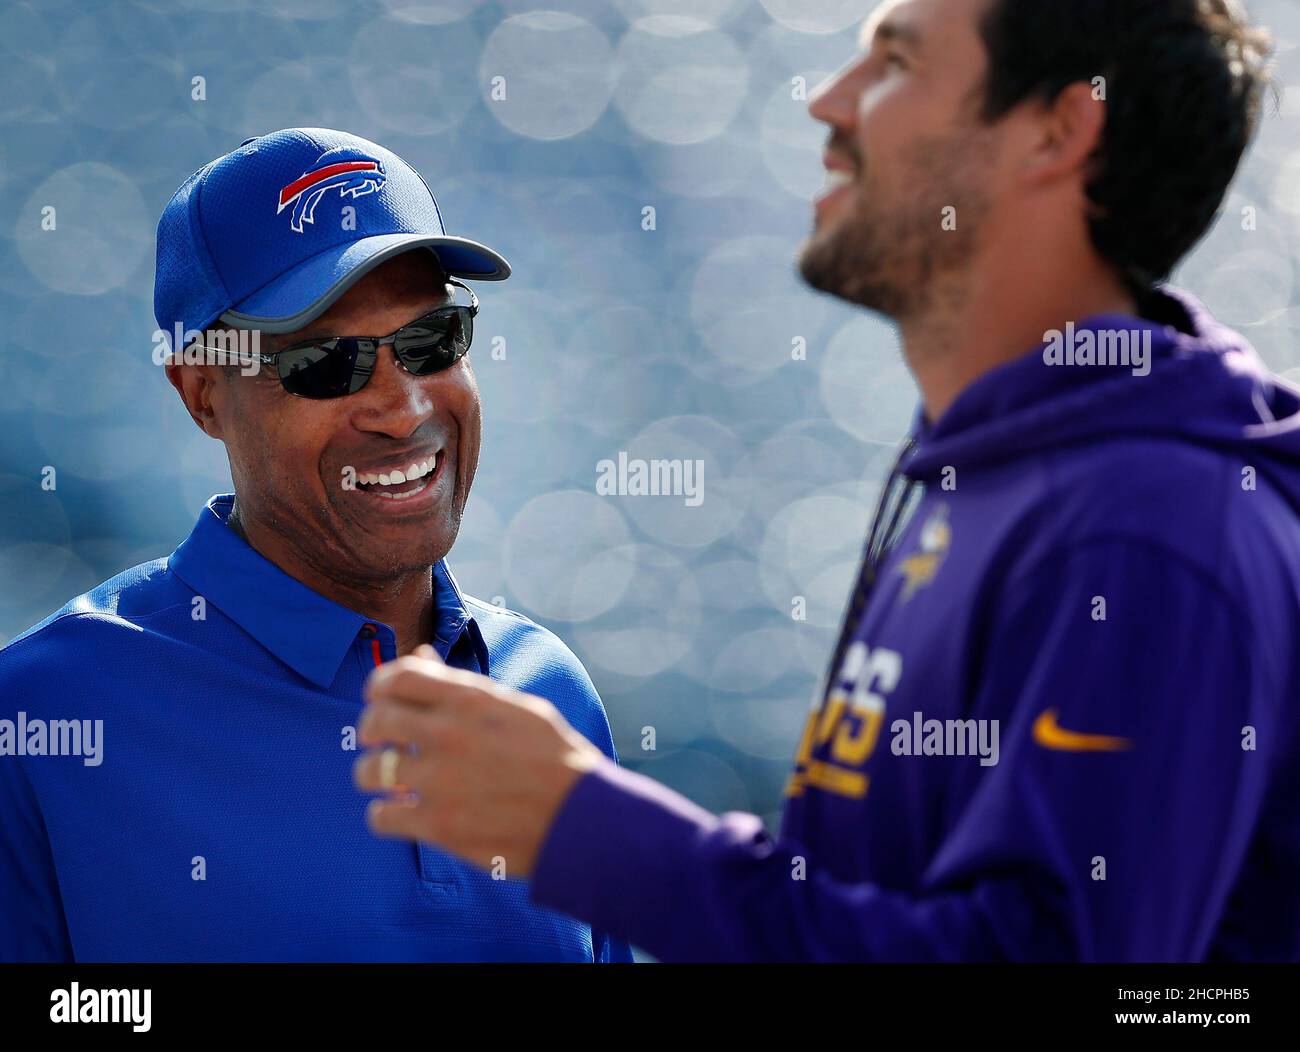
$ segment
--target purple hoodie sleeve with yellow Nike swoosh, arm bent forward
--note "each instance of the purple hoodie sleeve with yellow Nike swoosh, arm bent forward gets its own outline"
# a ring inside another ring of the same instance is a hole
[[[835,879],[833,839],[805,852],[608,763],[560,809],[534,899],[660,960],[1204,956],[1266,784],[1231,602],[1114,538],[1057,553],[987,620],[970,714],[1000,722],[1000,761],[952,787],[918,893]]]

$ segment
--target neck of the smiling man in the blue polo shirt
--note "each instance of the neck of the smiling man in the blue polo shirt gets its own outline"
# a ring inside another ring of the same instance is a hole
[[[433,573],[429,568],[382,580],[338,579],[321,573],[285,534],[248,521],[237,499],[226,524],[259,555],[326,599],[382,622],[396,633],[398,655],[433,640]]]

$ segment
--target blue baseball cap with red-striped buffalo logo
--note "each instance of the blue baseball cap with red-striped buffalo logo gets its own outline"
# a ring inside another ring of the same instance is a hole
[[[428,185],[396,153],[325,127],[272,131],[205,164],[162,209],[153,315],[173,350],[173,333],[218,320],[294,332],[412,248],[455,277],[510,277],[498,252],[446,233]]]

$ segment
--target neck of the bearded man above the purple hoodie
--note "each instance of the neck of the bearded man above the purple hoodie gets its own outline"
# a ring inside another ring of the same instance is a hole
[[[1004,268],[936,276],[924,311],[898,328],[933,423],[975,380],[1040,345],[1050,329],[1136,312],[1132,295],[1100,261],[1063,265],[1020,248]]]

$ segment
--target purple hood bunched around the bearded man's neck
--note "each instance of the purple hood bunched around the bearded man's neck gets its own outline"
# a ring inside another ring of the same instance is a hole
[[[1141,339],[1149,356],[1139,369],[1048,364],[1040,343],[971,384],[932,425],[918,415],[905,473],[928,481],[945,467],[1004,464],[1056,446],[1164,437],[1240,455],[1300,508],[1300,389],[1188,293],[1162,286],[1141,309],[1072,326],[1074,345],[1117,330]]]

